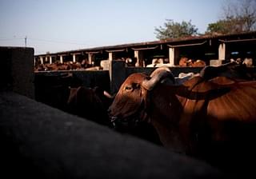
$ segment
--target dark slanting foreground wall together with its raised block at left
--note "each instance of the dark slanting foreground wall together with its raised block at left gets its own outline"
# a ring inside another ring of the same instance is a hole
[[[0,88],[3,178],[223,177],[202,161],[34,101],[27,92],[33,90],[33,54],[31,48],[1,48],[6,65]],[[21,62],[26,67],[18,68]]]

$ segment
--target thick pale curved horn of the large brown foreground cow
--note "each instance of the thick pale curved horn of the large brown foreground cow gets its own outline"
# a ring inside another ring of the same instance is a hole
[[[175,82],[174,74],[171,73],[170,69],[167,67],[160,67],[150,74],[150,79],[145,79],[142,82],[142,86],[146,88],[146,90],[153,90],[158,82],[162,82],[162,80],[166,78],[170,78],[170,80]]]

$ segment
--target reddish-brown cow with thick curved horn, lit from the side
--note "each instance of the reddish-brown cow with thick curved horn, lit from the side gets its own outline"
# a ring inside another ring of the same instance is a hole
[[[168,149],[225,169],[250,168],[242,161],[256,159],[256,82],[198,76],[170,86],[168,78],[174,81],[166,67],[150,77],[131,74],[110,106],[113,121],[138,117],[154,125]]]

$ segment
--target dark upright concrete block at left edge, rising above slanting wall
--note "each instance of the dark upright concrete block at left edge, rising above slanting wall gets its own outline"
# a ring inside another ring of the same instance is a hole
[[[0,90],[34,98],[34,49],[0,47]]]

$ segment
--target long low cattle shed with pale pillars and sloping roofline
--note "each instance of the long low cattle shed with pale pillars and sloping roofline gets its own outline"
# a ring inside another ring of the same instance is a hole
[[[138,42],[116,46],[100,46],[58,53],[37,54],[35,64],[53,62],[82,62],[86,60],[99,66],[102,60],[127,59],[130,66],[145,67],[160,59],[170,66],[178,66],[181,58],[202,60],[206,65],[223,60],[252,58],[255,64],[256,31],[227,35],[204,35],[166,39],[154,42]],[[218,60],[216,62],[216,60]]]

